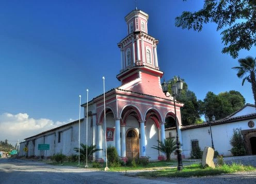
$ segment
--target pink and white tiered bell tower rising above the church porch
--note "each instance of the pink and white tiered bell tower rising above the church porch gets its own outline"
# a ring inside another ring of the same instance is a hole
[[[117,79],[122,83],[121,89],[159,97],[163,95],[160,82],[163,71],[158,67],[158,40],[148,34],[148,19],[147,13],[137,9],[124,17],[127,35],[118,43],[121,70]],[[151,93],[152,89],[155,91]]]

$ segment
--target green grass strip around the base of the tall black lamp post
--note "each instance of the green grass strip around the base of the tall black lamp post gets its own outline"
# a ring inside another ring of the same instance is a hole
[[[192,177],[192,176],[212,176],[212,175],[220,175],[227,173],[234,173],[238,171],[255,171],[256,168],[252,166],[245,166],[242,164],[232,163],[231,165],[222,165],[222,167],[218,167],[215,169],[205,168],[203,169],[200,164],[191,164],[186,167],[182,171],[177,171],[177,168],[170,169],[162,169],[151,172],[141,172],[138,173],[137,176],[140,177]]]

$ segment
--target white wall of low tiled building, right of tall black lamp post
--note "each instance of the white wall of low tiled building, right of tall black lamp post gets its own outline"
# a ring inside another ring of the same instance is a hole
[[[256,119],[251,120],[256,121]],[[254,127],[250,128],[248,126],[248,121],[249,120],[244,120],[212,126],[215,150],[224,156],[231,156],[229,150],[232,148],[230,139],[233,136],[233,128],[242,128],[242,130],[253,129]],[[209,134],[208,130],[210,130],[209,126],[182,131],[183,154],[186,158],[190,157],[191,140],[193,139],[198,139],[201,149],[204,149],[205,146],[212,146],[211,133]]]

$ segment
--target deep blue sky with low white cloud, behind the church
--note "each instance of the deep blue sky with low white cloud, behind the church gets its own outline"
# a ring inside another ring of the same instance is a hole
[[[239,58],[222,54],[217,25],[182,30],[174,19],[202,8],[201,1],[137,0],[149,14],[148,32],[159,40],[163,79],[174,75],[203,100],[208,91],[237,90],[254,103],[251,86],[236,77]],[[120,50],[127,34],[124,16],[135,1],[2,1],[0,6],[0,140],[10,143],[79,118],[79,95],[86,102],[118,87]],[[82,111],[83,112],[83,111]]]

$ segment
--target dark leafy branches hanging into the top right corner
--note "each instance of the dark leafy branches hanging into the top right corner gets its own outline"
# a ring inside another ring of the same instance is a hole
[[[200,32],[203,24],[216,23],[226,47],[222,53],[238,57],[241,49],[250,50],[256,46],[256,1],[255,0],[205,0],[204,6],[197,12],[184,11],[175,18],[175,26]]]

